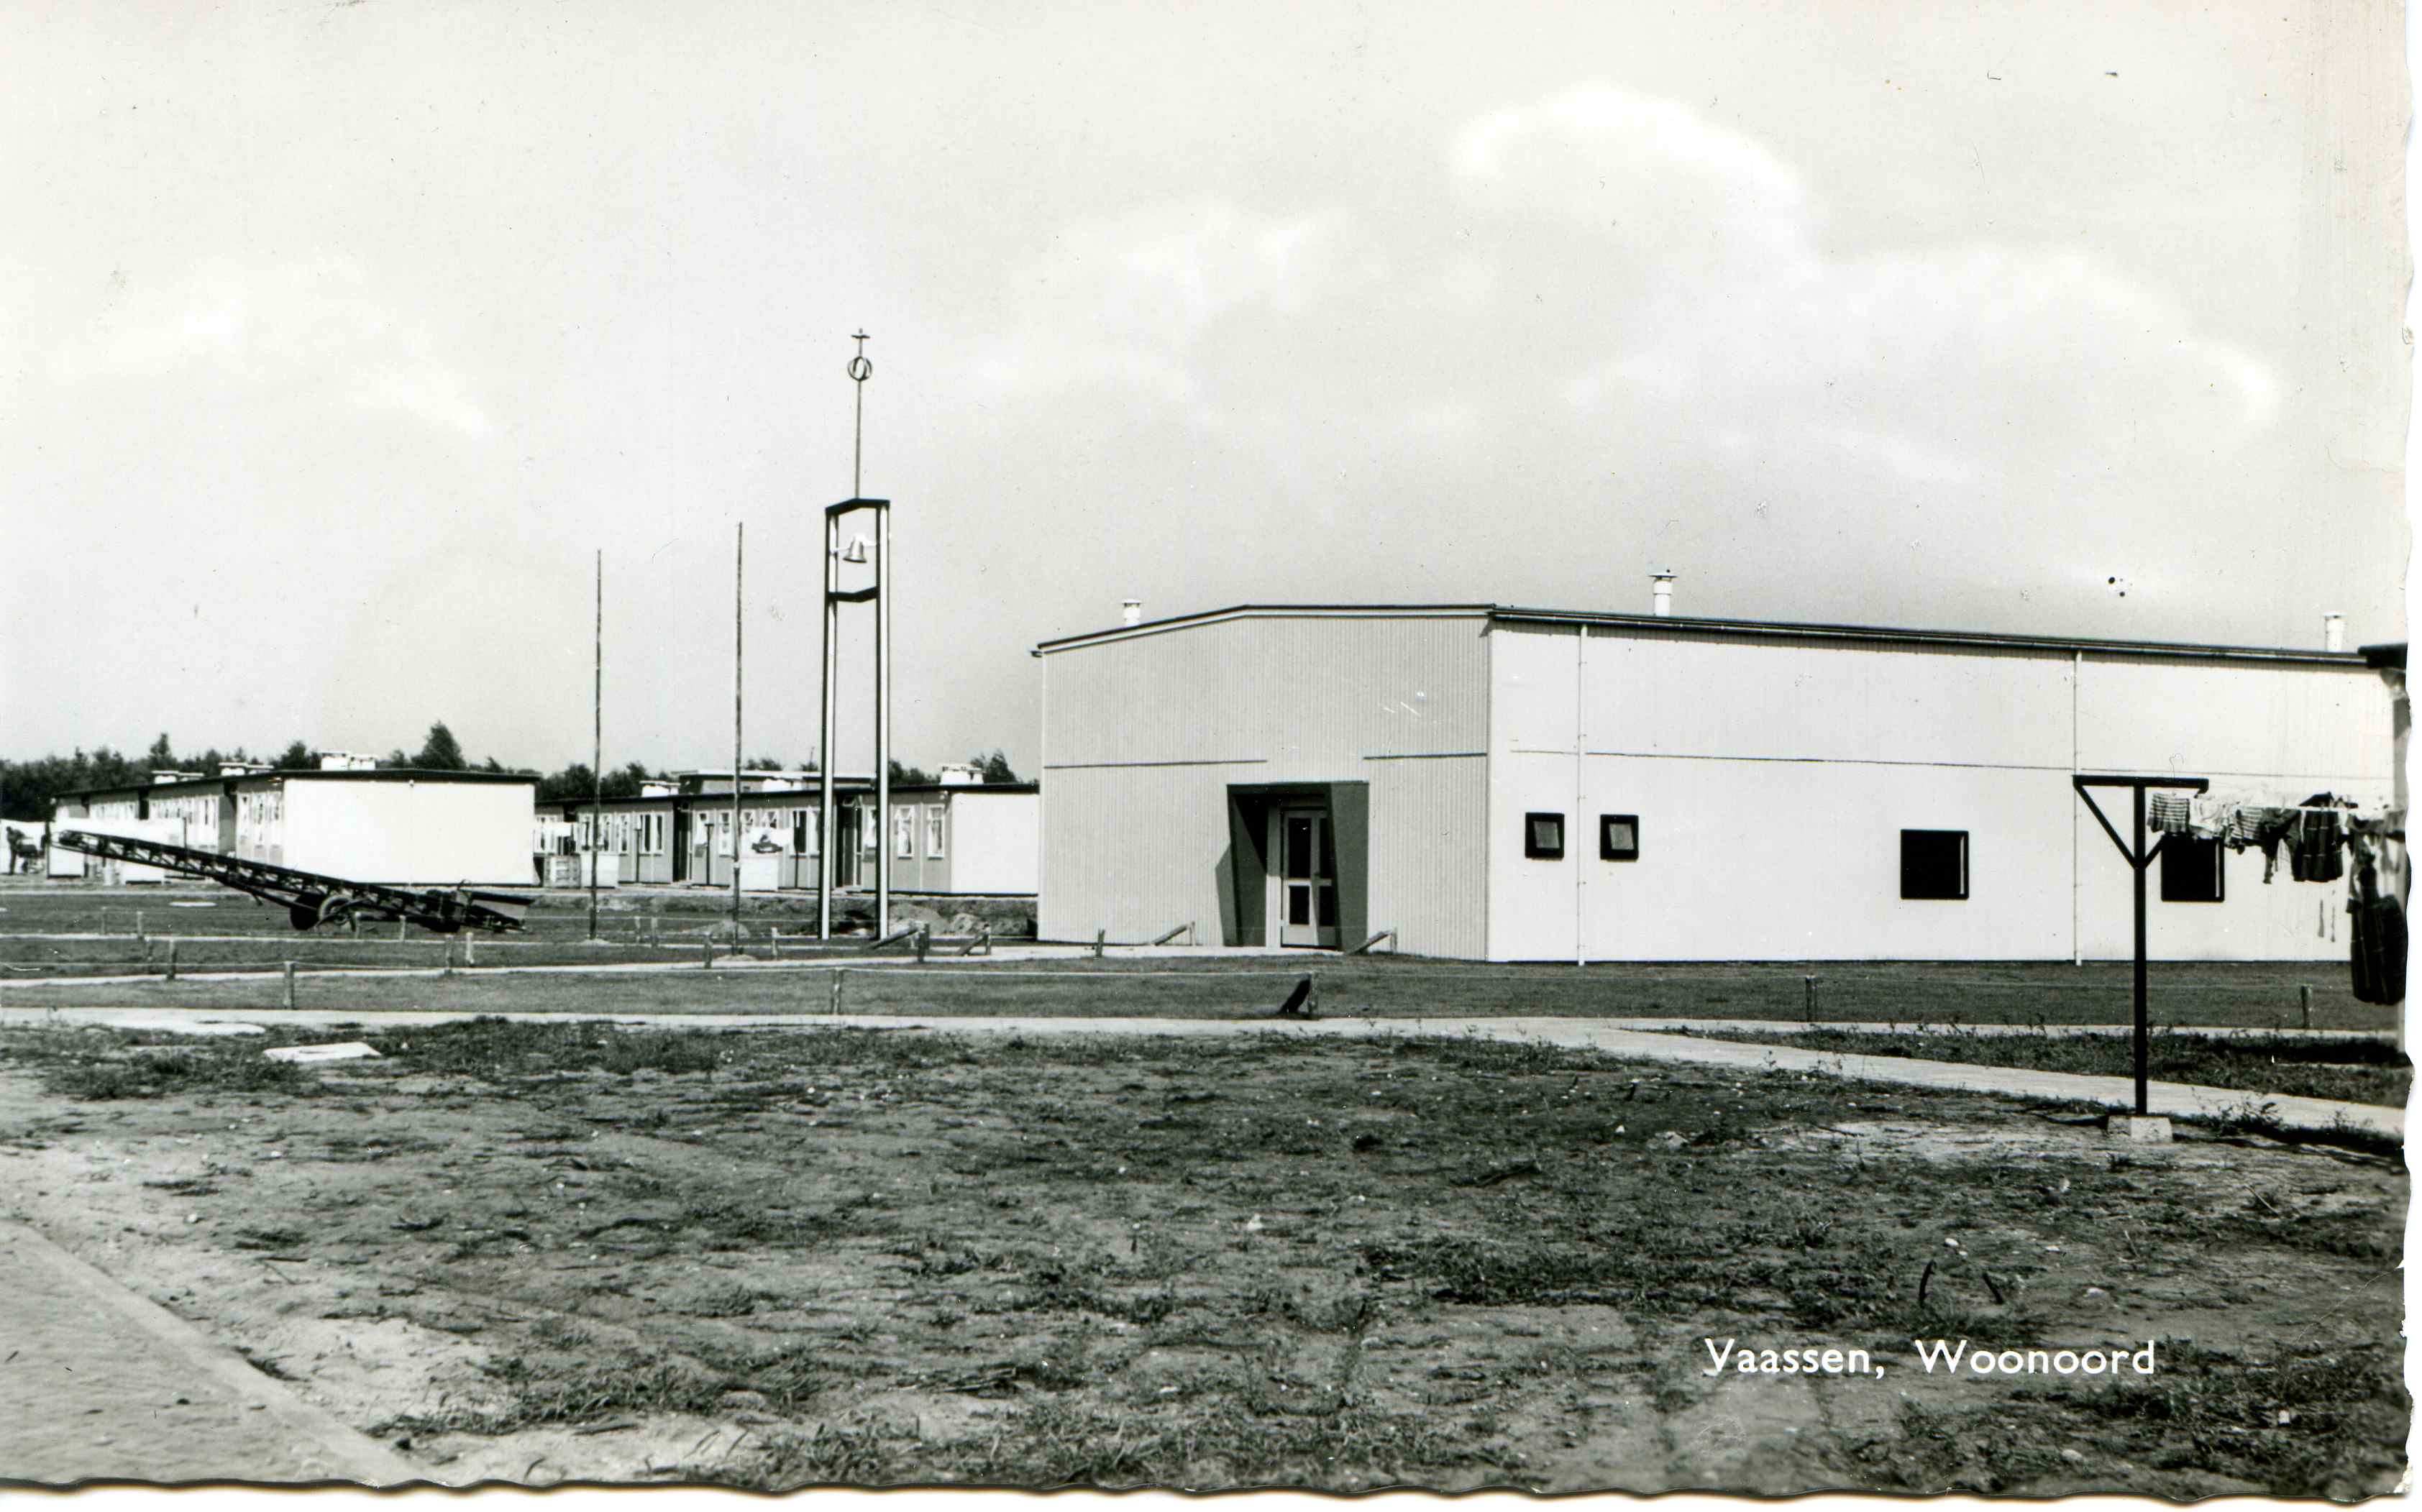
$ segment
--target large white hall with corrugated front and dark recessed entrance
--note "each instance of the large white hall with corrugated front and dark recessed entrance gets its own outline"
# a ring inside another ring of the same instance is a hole
[[[1238,606],[1037,654],[1046,940],[2122,960],[2129,865],[2073,775],[2364,814],[2393,790],[2391,695],[2352,652]],[[2156,957],[2344,957],[2344,884],[2165,855]]]

